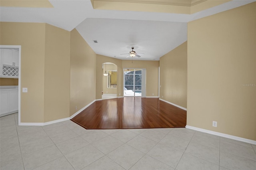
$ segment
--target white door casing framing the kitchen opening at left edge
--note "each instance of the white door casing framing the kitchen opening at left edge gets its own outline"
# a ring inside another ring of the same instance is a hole
[[[0,45],[0,48],[18,48],[19,49],[19,78],[18,78],[18,125],[20,125],[20,86],[21,86],[21,45]]]

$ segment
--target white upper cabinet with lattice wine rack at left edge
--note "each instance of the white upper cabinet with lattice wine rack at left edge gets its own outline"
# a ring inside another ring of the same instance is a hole
[[[0,49],[0,76],[19,77],[19,51],[17,49]]]

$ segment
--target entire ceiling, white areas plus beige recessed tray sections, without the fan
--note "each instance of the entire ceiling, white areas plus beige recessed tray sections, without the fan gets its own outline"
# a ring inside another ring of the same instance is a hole
[[[134,46],[134,51],[144,53],[134,59],[159,60],[187,40],[188,22],[256,0],[125,1],[0,0],[0,21],[47,23],[68,31],[76,28],[97,54],[129,60],[120,54]],[[174,2],[188,6],[164,4]],[[182,13],[184,9],[188,13]]]

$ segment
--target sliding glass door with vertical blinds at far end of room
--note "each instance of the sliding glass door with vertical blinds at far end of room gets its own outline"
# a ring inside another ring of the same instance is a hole
[[[146,97],[146,69],[124,69],[124,96]]]

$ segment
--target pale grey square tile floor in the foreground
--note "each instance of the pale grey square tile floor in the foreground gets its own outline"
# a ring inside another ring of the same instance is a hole
[[[0,118],[1,170],[255,170],[256,145],[186,128],[86,130]]]

